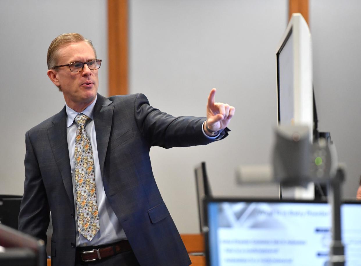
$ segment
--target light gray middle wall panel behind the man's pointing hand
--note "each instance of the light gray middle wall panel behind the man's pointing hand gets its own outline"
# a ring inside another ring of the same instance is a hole
[[[278,42],[287,1],[131,1],[130,92],[172,115],[204,116],[209,91],[236,107],[225,140],[152,148],[153,172],[183,233],[198,232],[193,168],[206,161],[215,195],[277,196],[275,186],[236,185],[239,164],[269,161],[276,113]]]

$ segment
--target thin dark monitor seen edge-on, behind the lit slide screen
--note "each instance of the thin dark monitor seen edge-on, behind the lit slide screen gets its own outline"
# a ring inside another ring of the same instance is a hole
[[[204,228],[204,212],[203,212],[203,200],[206,197],[211,196],[210,185],[208,181],[205,162],[201,162],[194,169],[197,191],[197,205],[199,214],[199,227],[200,232],[203,232]]]

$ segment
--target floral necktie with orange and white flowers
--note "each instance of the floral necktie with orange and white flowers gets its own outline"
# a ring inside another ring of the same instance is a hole
[[[89,241],[99,231],[98,206],[96,201],[93,150],[85,131],[89,120],[85,114],[78,114],[75,136],[75,192],[77,201],[78,231]]]

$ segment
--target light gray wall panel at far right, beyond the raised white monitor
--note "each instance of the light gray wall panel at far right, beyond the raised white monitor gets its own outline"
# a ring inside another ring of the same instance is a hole
[[[361,175],[361,2],[310,0],[309,9],[319,130],[331,132],[347,166],[344,196],[355,198]]]

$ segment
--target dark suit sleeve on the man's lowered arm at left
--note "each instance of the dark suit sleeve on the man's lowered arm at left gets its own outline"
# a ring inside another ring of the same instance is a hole
[[[38,237],[44,240],[46,244],[46,231],[49,225],[49,205],[29,131],[26,132],[25,143],[25,182],[19,213],[19,231]]]

